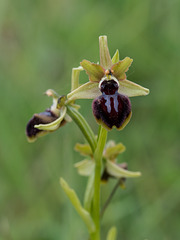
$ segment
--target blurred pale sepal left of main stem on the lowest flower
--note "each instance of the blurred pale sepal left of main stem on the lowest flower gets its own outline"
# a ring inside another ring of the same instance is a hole
[[[94,171],[95,163],[93,160],[85,159],[75,163],[74,166],[77,168],[77,171],[80,175],[90,176]]]

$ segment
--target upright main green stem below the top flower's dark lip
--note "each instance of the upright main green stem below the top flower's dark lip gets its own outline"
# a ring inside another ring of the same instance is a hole
[[[94,178],[94,198],[93,198],[93,220],[96,231],[91,235],[92,240],[100,240],[100,183],[102,170],[102,155],[106,144],[107,131],[100,126],[97,148],[94,153],[95,159],[95,178]]]

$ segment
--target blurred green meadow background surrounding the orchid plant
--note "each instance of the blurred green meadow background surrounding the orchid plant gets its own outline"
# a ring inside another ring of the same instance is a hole
[[[120,240],[180,239],[179,89],[180,2],[178,0],[1,0],[0,1],[0,239],[87,239],[84,223],[60,188],[64,177],[83,199],[87,179],[73,164],[84,142],[74,123],[26,140],[33,113],[45,110],[53,88],[70,90],[72,67],[99,61],[99,35],[107,35],[111,55],[134,59],[128,79],[150,89],[131,98],[133,117],[108,139],[123,142],[119,162],[142,177],[126,182],[107,209],[102,239],[115,225]],[[87,81],[81,75],[81,81]],[[81,113],[98,127],[91,100]],[[102,202],[115,181],[102,186]]]

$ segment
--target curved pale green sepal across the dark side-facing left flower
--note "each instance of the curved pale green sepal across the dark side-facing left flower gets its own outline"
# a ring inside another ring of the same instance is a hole
[[[59,128],[59,125],[61,124],[62,120],[64,119],[66,114],[66,107],[62,107],[60,109],[60,117],[57,118],[55,121],[48,123],[48,124],[39,124],[35,125],[35,128],[38,128],[39,130],[45,130],[45,131],[55,131]]]

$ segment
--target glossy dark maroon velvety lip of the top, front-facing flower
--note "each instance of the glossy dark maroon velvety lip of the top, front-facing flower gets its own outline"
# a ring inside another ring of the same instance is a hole
[[[118,93],[118,83],[114,80],[104,80],[100,89],[102,95],[92,103],[96,121],[107,130],[113,127],[121,130],[131,118],[129,98]]]

